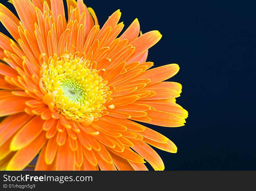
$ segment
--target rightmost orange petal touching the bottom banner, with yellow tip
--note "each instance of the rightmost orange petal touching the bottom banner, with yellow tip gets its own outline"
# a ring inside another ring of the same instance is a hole
[[[154,149],[152,149],[143,140],[133,140],[134,146],[132,149],[141,155],[148,163],[154,168],[154,170],[163,170],[164,164],[160,156]]]

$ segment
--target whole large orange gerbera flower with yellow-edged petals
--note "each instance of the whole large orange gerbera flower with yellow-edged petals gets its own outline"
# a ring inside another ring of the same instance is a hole
[[[138,122],[183,126],[175,103],[182,86],[162,82],[179,66],[154,69],[148,49],[158,31],[138,37],[138,20],[122,31],[115,11],[104,26],[82,0],[12,0],[19,19],[0,4],[0,169],[163,170],[149,145],[177,152],[165,136]],[[7,65],[8,64],[8,65]]]

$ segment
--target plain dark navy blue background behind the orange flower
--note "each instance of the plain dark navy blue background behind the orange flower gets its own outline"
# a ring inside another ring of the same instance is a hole
[[[155,67],[177,63],[181,68],[171,81],[183,85],[177,103],[189,111],[186,125],[150,126],[178,147],[176,154],[157,149],[166,170],[256,170],[254,4],[85,3],[95,10],[100,26],[120,9],[126,27],[137,17],[143,33],[159,30],[163,37],[149,50],[147,60]]]

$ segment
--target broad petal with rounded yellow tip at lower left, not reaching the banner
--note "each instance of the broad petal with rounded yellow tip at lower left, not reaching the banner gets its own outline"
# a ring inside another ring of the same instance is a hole
[[[36,116],[27,122],[14,136],[10,144],[10,150],[22,149],[36,139],[43,130],[43,122],[40,116]]]

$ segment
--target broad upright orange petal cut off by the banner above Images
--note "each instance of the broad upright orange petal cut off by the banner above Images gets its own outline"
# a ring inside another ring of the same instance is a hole
[[[58,147],[56,155],[56,170],[74,170],[75,152],[71,150],[68,141]]]

